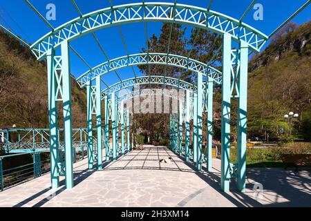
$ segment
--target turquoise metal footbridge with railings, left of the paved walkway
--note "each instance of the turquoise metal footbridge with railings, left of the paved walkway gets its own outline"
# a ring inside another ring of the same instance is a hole
[[[59,128],[59,163],[64,164],[64,129]],[[96,129],[93,129],[96,131]],[[104,135],[104,132],[102,132]],[[0,188],[40,177],[50,171],[48,128],[0,129]],[[83,160],[88,148],[86,128],[73,128],[73,162]],[[97,137],[93,136],[97,154]],[[1,155],[1,153],[3,155]]]

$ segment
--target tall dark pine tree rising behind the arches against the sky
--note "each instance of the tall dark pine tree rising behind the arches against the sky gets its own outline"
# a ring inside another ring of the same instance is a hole
[[[153,34],[148,40],[147,47],[142,48],[142,52],[160,52],[181,55],[196,59],[207,64],[211,59],[211,65],[220,66],[221,51],[218,50],[221,45],[221,37],[201,28],[193,28],[189,39],[185,37],[186,28],[179,23],[163,23],[159,37]],[[140,65],[138,66],[144,75],[161,75],[167,77],[176,77],[182,80],[196,83],[196,73],[182,68],[164,65]],[[147,88],[148,86],[142,87]],[[152,85],[152,88],[157,86]],[[165,86],[164,86],[165,87]],[[142,98],[141,100],[143,100]],[[146,131],[150,141],[158,141],[164,137],[168,131],[169,115],[164,114],[139,114],[134,115],[136,126]]]

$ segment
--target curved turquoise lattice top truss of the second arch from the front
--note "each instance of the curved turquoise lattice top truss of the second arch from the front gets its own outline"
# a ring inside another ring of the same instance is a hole
[[[155,52],[133,54],[129,56],[117,57],[111,61],[105,61],[104,63],[77,77],[77,82],[81,87],[84,87],[88,81],[95,80],[97,76],[104,75],[119,68],[140,64],[160,64],[185,68],[196,73],[202,73],[202,75],[211,77],[216,84],[221,84],[221,72],[216,68],[188,57]]]

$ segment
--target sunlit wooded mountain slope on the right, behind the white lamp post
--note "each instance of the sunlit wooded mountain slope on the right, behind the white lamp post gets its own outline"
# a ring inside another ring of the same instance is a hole
[[[294,133],[308,133],[311,115],[311,22],[281,35],[249,62],[248,131],[280,135],[288,130],[283,116],[299,113]],[[305,125],[305,126],[303,126]],[[306,137],[305,137],[306,138]]]

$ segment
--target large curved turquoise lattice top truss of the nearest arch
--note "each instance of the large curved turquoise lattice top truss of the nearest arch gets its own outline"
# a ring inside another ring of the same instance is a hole
[[[101,28],[139,21],[165,21],[196,26],[229,35],[235,41],[245,41],[249,49],[258,52],[268,37],[255,28],[219,12],[178,3],[131,3],[104,8],[64,23],[41,37],[30,49],[37,59],[46,57],[50,48],[62,41],[72,41]]]

